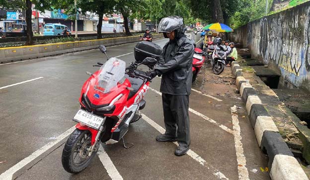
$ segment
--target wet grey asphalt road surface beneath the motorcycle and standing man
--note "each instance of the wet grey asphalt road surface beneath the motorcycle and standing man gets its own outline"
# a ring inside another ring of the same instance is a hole
[[[199,35],[194,37],[199,40]],[[159,39],[154,42],[163,46],[166,41]],[[135,43],[108,47],[107,53],[110,57],[131,53],[119,57],[128,65],[134,61],[134,46]],[[79,107],[80,89],[88,78],[85,72],[95,72],[98,68],[92,65],[104,60],[104,55],[97,49],[0,65],[0,162],[3,162],[0,163],[0,174],[76,124],[72,117]],[[225,71],[230,70],[227,68]],[[155,136],[159,134],[156,124],[164,127],[161,97],[156,93],[160,78],[155,78],[150,86],[152,90],[145,97],[147,105],[142,110],[147,117],[131,124],[125,135],[128,143],[135,144],[132,148],[124,149],[121,142],[103,146],[105,157],[111,163],[102,162],[96,156],[87,169],[72,175],[62,168],[62,144],[51,148],[52,152],[40,157],[42,160],[30,169],[21,169],[16,173],[16,179],[238,180],[248,177],[250,180],[269,180],[268,172],[261,171],[261,168],[267,167],[268,158],[257,145],[245,105],[234,97],[237,94],[217,95],[221,89],[216,84],[203,86],[204,75],[208,76],[208,73],[212,73],[210,68],[204,68],[193,89],[201,91],[204,88],[206,94],[222,101],[196,91],[190,95],[190,148],[194,155],[176,157],[175,144],[155,141]],[[1,89],[39,77],[43,78]],[[233,90],[235,87],[228,88]],[[231,107],[236,104],[241,109],[232,113]],[[233,121],[233,114],[237,114],[237,124]],[[150,119],[155,125],[149,123]],[[239,139],[235,133],[238,127]],[[240,147],[243,148],[242,153]],[[111,164],[115,167],[114,171],[111,171]],[[20,172],[23,174],[20,175]],[[1,176],[0,179],[5,178]]]

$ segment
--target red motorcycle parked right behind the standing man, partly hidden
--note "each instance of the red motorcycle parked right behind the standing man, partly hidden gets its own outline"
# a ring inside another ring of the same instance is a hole
[[[193,71],[192,82],[196,81],[198,73],[202,65],[204,64],[205,60],[206,60],[205,53],[201,49],[195,48],[194,56],[193,56],[193,67],[192,67],[192,71]]]

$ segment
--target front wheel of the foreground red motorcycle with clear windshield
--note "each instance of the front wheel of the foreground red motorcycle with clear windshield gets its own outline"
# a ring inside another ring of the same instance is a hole
[[[96,152],[88,156],[91,146],[91,133],[88,130],[76,129],[67,140],[63,154],[62,164],[68,173],[79,173],[91,162]]]

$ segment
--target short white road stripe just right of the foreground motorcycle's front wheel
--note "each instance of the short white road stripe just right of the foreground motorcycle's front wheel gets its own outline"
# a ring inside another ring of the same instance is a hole
[[[123,177],[119,174],[116,167],[114,166],[113,162],[111,161],[108,154],[104,151],[102,144],[100,144],[97,155],[103,165],[103,167],[106,169],[108,175],[112,180],[123,180]]]

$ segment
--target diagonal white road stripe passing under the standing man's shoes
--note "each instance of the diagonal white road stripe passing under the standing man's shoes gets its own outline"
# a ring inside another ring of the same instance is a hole
[[[165,129],[163,127],[161,127],[160,125],[158,125],[155,121],[153,121],[151,118],[149,118],[148,116],[146,116],[145,114],[141,113],[142,118],[149,123],[151,126],[153,126],[159,133],[163,134],[165,133]],[[177,142],[173,142],[175,145],[178,146]],[[187,151],[186,153],[188,156],[190,156],[191,158],[193,158],[195,161],[197,161],[199,164],[201,164],[202,166],[205,167],[205,164],[207,164],[207,162],[202,159],[198,154],[196,154],[194,151],[192,151],[191,149]],[[213,175],[217,176],[220,179],[225,179],[225,180],[229,180],[228,178],[225,177],[225,175],[223,173],[221,173],[218,170],[215,170],[214,167],[210,167],[213,169],[213,171],[215,171],[215,173],[213,173]],[[209,168],[208,168],[209,169]]]

